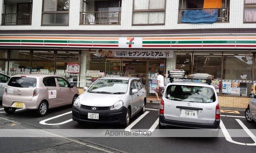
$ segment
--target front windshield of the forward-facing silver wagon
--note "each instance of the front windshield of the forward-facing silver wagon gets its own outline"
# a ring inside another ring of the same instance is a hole
[[[88,89],[90,93],[124,94],[127,92],[129,80],[98,79]]]

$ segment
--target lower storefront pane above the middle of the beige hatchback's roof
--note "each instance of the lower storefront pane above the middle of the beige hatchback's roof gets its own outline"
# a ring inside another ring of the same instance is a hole
[[[31,72],[40,72],[42,74],[54,73],[54,62],[32,62]]]

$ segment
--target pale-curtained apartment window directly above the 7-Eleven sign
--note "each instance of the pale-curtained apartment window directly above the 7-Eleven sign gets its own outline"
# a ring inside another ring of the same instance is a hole
[[[133,25],[165,23],[166,0],[134,0],[133,4]]]

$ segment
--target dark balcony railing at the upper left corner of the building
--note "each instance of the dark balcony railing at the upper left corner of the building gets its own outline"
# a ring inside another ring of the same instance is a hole
[[[2,25],[31,25],[32,13],[2,14]]]

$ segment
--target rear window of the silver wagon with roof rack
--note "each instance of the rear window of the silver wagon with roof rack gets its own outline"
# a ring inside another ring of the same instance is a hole
[[[169,85],[165,97],[174,101],[196,103],[212,103],[216,101],[214,90],[211,87]]]

